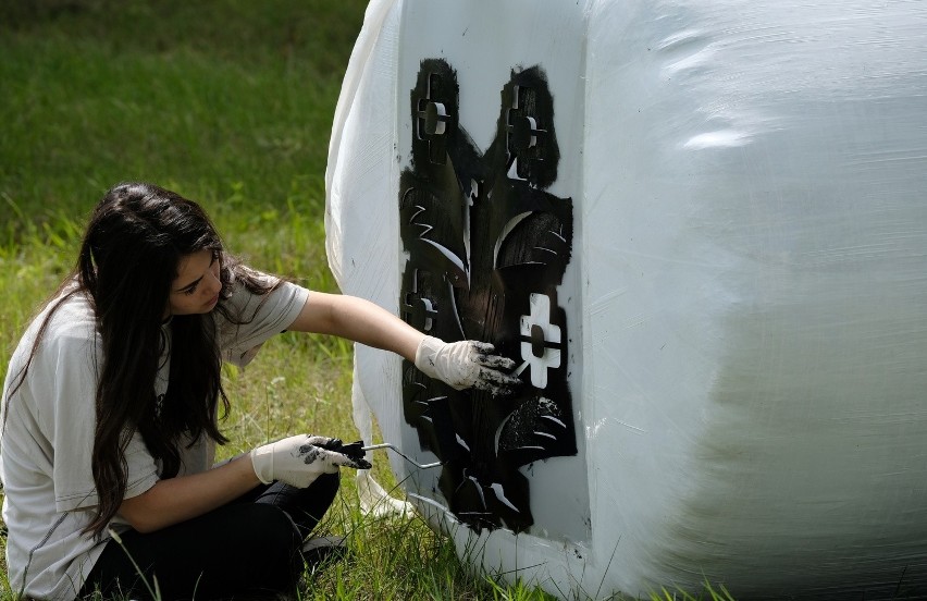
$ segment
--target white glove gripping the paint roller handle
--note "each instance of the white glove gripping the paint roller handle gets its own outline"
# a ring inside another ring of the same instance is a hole
[[[258,479],[269,485],[280,480],[306,488],[322,474],[335,474],[339,466],[370,469],[370,464],[337,451],[342,441],[327,437],[297,434],[251,450],[251,466]]]

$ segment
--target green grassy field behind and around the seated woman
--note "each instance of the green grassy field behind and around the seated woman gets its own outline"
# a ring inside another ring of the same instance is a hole
[[[335,291],[324,256],[323,174],[364,7],[0,3],[0,371],[70,269],[88,211],[120,181],[150,181],[198,200],[226,245],[255,267]],[[233,442],[222,454],[285,433],[356,436],[350,353],[343,341],[285,334],[247,373],[227,369]],[[374,474],[394,485],[384,465]],[[348,535],[355,553],[309,575],[305,599],[547,598],[530,584],[468,573],[453,544],[420,519],[364,517],[353,480],[343,481],[322,528]],[[5,600],[13,594],[3,573]]]

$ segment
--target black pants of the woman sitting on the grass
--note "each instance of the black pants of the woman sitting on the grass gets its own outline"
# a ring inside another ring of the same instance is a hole
[[[306,489],[274,482],[156,532],[129,530],[122,544],[107,542],[81,597],[100,590],[103,599],[150,599],[139,569],[152,589],[157,577],[163,601],[292,594],[304,569],[302,541],[337,490],[337,474]]]

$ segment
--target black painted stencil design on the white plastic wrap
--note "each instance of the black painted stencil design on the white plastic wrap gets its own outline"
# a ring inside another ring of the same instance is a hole
[[[404,364],[406,421],[444,462],[441,492],[475,530],[533,524],[519,467],[577,454],[560,284],[572,200],[557,180],[554,102],[540,68],[500,82],[493,143],[480,152],[458,121],[457,74],[422,61],[410,91],[411,164],[400,176],[403,318],[445,341],[480,340],[521,367],[508,397],[456,391]],[[481,101],[492,102],[490,98]]]

